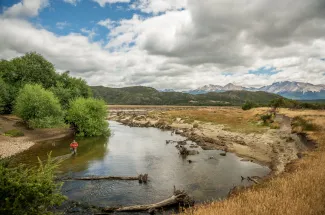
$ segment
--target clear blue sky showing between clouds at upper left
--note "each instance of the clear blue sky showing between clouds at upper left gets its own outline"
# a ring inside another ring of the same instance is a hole
[[[20,0],[5,1],[2,10],[19,2]],[[130,19],[134,12],[129,9],[129,3],[107,4],[101,7],[97,2],[88,0],[78,1],[76,5],[63,0],[55,0],[51,1],[50,6],[44,8],[37,17],[29,20],[57,35],[68,35],[72,32],[84,34],[81,29],[91,31],[96,28],[93,40],[97,41],[107,39],[108,29],[96,26],[96,23],[107,18],[115,21]],[[145,16],[141,11],[136,13]]]

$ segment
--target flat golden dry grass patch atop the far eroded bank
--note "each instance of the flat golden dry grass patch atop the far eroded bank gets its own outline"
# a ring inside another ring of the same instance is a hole
[[[250,133],[263,132],[265,130],[265,127],[257,124],[259,115],[265,113],[265,111],[266,108],[244,111],[238,107],[210,107],[194,110],[172,110],[168,111],[165,117],[180,117],[185,122],[198,120],[201,122],[223,124],[228,130]]]

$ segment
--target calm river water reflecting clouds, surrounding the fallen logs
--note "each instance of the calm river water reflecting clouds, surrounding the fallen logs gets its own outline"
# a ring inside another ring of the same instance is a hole
[[[66,181],[64,195],[72,200],[96,206],[118,206],[154,203],[171,196],[173,187],[183,189],[196,202],[225,198],[236,185],[250,185],[241,176],[265,176],[270,170],[252,162],[241,161],[232,153],[199,150],[183,158],[175,144],[166,140],[184,140],[170,131],[135,128],[110,121],[111,137],[80,139],[78,154],[65,160],[60,173],[81,176],[137,176],[149,174],[148,184],[138,181]],[[71,139],[49,141],[33,146],[16,156],[16,161],[34,164],[37,156],[46,159],[69,153]],[[189,142],[191,144],[191,142]],[[214,159],[209,159],[210,157]],[[192,160],[189,163],[188,160]]]

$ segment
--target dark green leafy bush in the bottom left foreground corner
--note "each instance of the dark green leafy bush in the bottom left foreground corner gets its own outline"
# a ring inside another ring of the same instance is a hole
[[[54,182],[57,166],[50,155],[45,164],[39,160],[38,168],[9,167],[8,162],[0,161],[0,214],[52,214],[48,208],[65,200],[61,183]]]

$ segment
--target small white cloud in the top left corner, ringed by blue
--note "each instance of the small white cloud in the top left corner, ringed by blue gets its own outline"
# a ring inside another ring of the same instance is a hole
[[[6,9],[5,17],[33,17],[37,16],[40,10],[49,5],[48,0],[22,0]]]

